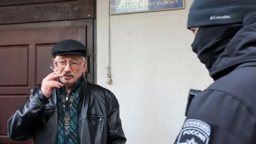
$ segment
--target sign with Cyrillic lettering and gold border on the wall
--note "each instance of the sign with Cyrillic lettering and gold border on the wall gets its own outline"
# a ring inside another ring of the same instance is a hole
[[[184,9],[185,0],[109,0],[110,15]]]

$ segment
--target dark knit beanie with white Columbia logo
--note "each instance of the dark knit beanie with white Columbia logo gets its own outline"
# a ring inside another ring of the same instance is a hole
[[[194,0],[187,28],[241,23],[247,13],[255,11],[255,0]]]

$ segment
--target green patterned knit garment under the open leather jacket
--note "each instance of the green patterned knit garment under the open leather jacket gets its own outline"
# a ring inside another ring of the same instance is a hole
[[[67,94],[65,86],[57,90],[59,144],[79,143],[78,114],[81,82],[82,77],[78,79],[69,94]]]

